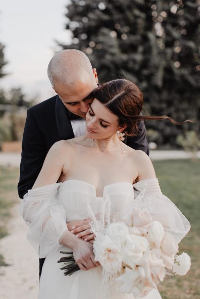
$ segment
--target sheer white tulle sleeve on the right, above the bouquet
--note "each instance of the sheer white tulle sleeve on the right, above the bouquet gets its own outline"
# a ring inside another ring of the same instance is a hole
[[[164,230],[179,243],[190,231],[190,223],[177,206],[161,193],[158,179],[146,179],[133,184],[133,206],[148,210],[153,220],[158,220]]]

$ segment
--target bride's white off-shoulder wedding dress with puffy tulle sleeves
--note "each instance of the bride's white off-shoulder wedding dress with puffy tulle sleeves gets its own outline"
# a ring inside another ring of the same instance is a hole
[[[137,189],[134,191],[134,189]],[[138,196],[142,194],[142,196]],[[60,251],[72,251],[59,244],[66,232],[66,222],[88,217],[89,203],[95,214],[101,213],[106,196],[111,200],[111,213],[127,210],[131,205],[148,208],[165,230],[178,242],[190,230],[190,224],[178,208],[162,195],[157,179],[147,179],[134,185],[119,182],[104,187],[103,197],[96,197],[95,187],[78,180],[67,180],[29,190],[20,207],[30,227],[29,241],[40,258],[46,258],[40,277],[39,299],[104,299],[102,267],[79,270],[65,276],[57,261],[65,256]],[[135,199],[134,199],[135,197]],[[138,199],[137,199],[138,198]],[[110,299],[134,299],[132,294],[118,294]],[[158,290],[152,290],[145,299],[161,299]]]

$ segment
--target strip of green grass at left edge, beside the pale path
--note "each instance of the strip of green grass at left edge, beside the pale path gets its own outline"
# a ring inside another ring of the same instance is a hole
[[[19,170],[12,167],[0,167],[0,238],[7,235],[6,224],[10,217],[10,207],[18,199],[17,181]],[[0,254],[0,266],[7,266]]]

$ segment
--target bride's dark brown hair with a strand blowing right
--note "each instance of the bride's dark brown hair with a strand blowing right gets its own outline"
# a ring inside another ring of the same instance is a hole
[[[138,86],[129,80],[117,79],[104,83],[92,92],[92,96],[119,117],[119,126],[126,125],[125,133],[128,136],[136,135],[137,122],[141,120],[168,119],[175,125],[192,122],[186,120],[179,123],[166,115],[140,115],[144,103],[143,94]]]

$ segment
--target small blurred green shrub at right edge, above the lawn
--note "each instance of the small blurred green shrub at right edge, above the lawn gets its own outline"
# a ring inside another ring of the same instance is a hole
[[[184,135],[178,135],[176,142],[186,152],[192,152],[193,157],[196,157],[197,151],[200,149],[200,138],[195,131],[187,131]]]

